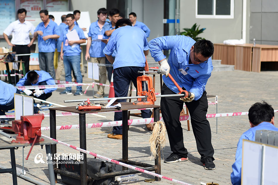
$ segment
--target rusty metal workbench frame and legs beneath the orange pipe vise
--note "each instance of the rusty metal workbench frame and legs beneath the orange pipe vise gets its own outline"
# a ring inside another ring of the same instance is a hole
[[[155,171],[157,174],[161,174],[161,161],[160,161],[160,146],[158,149],[158,157],[155,159],[155,165],[150,165],[143,162],[131,161],[128,160],[128,110],[132,109],[140,109],[140,108],[153,108],[154,112],[154,121],[157,122],[159,120],[159,108],[160,106],[157,105],[133,105],[130,102],[121,102],[121,110],[122,110],[122,125],[123,125],[123,140],[122,140],[122,160],[126,164],[136,165],[139,167],[143,167],[143,169],[148,171]],[[64,111],[64,112],[71,112],[71,113],[78,113],[79,114],[79,139],[80,139],[80,148],[87,150],[86,147],[86,114],[87,113],[101,113],[101,112],[111,112],[117,111],[117,109],[101,109],[101,110],[93,110],[93,111],[78,111],[75,109],[75,106],[71,107],[61,107],[61,108],[49,108],[50,113],[50,137],[56,138],[56,110]],[[52,153],[57,153],[56,145],[52,146],[51,148]],[[80,152],[82,153],[82,152]],[[80,180],[81,185],[86,185],[88,180],[91,180],[91,177],[87,177],[87,154],[83,153],[83,163],[80,164]],[[54,172],[57,177],[57,173],[69,175],[69,173],[63,173],[63,170],[57,169],[56,163],[54,163]],[[111,172],[107,174],[101,175],[100,179],[108,178],[108,177],[115,177],[125,174],[133,174],[133,173],[140,173],[136,170],[127,170],[126,167],[123,167],[123,171],[119,172]],[[76,174],[75,174],[76,177]],[[155,180],[160,181],[159,177],[155,177]]]

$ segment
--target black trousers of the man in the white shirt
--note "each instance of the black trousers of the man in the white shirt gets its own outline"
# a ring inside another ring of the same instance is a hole
[[[30,48],[27,45],[16,45],[13,46],[13,51],[16,52],[16,54],[29,54],[30,53]],[[29,71],[29,61],[30,61],[30,55],[27,56],[18,56],[18,61],[24,61],[24,65],[25,65],[25,73],[27,73]],[[18,69],[20,67],[20,63],[18,63]],[[14,73],[18,73],[18,70],[11,70],[11,74]],[[15,79],[12,77],[11,78],[12,83],[15,82]],[[19,78],[16,75],[16,82],[15,84],[18,82]]]

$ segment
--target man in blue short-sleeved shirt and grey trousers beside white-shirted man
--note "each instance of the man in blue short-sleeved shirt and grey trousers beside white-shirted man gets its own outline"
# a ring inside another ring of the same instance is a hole
[[[38,37],[40,70],[49,72],[50,76],[55,79],[53,64],[56,48],[55,39],[60,37],[60,31],[57,24],[49,19],[47,10],[40,11],[40,18],[42,22],[37,25],[34,37],[30,43],[33,43]]]

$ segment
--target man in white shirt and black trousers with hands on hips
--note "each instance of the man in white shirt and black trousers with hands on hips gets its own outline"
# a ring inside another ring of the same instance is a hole
[[[17,11],[18,20],[12,22],[8,27],[4,30],[3,36],[8,43],[9,46],[13,47],[13,51],[16,54],[28,54],[30,53],[30,46],[33,43],[30,43],[30,33],[34,34],[34,26],[29,21],[25,20],[27,11],[24,8],[21,8]],[[8,36],[12,34],[11,42],[8,39]],[[29,60],[30,55],[27,56],[18,56],[18,60],[24,61],[25,72],[29,71]],[[20,64],[20,63],[19,63]],[[19,66],[18,66],[19,68]],[[18,71],[17,71],[18,72]],[[14,70],[11,72],[14,74]],[[13,78],[12,78],[13,81]],[[18,81],[18,76],[16,78]],[[17,82],[15,82],[16,84]]]

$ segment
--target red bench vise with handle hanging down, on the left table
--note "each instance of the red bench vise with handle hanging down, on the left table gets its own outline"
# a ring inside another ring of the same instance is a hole
[[[26,160],[28,160],[34,144],[44,141],[43,138],[40,138],[43,119],[43,115],[30,115],[21,116],[20,120],[14,120],[12,122],[12,130],[18,135],[16,136],[16,140],[12,140],[11,143],[32,143]]]

